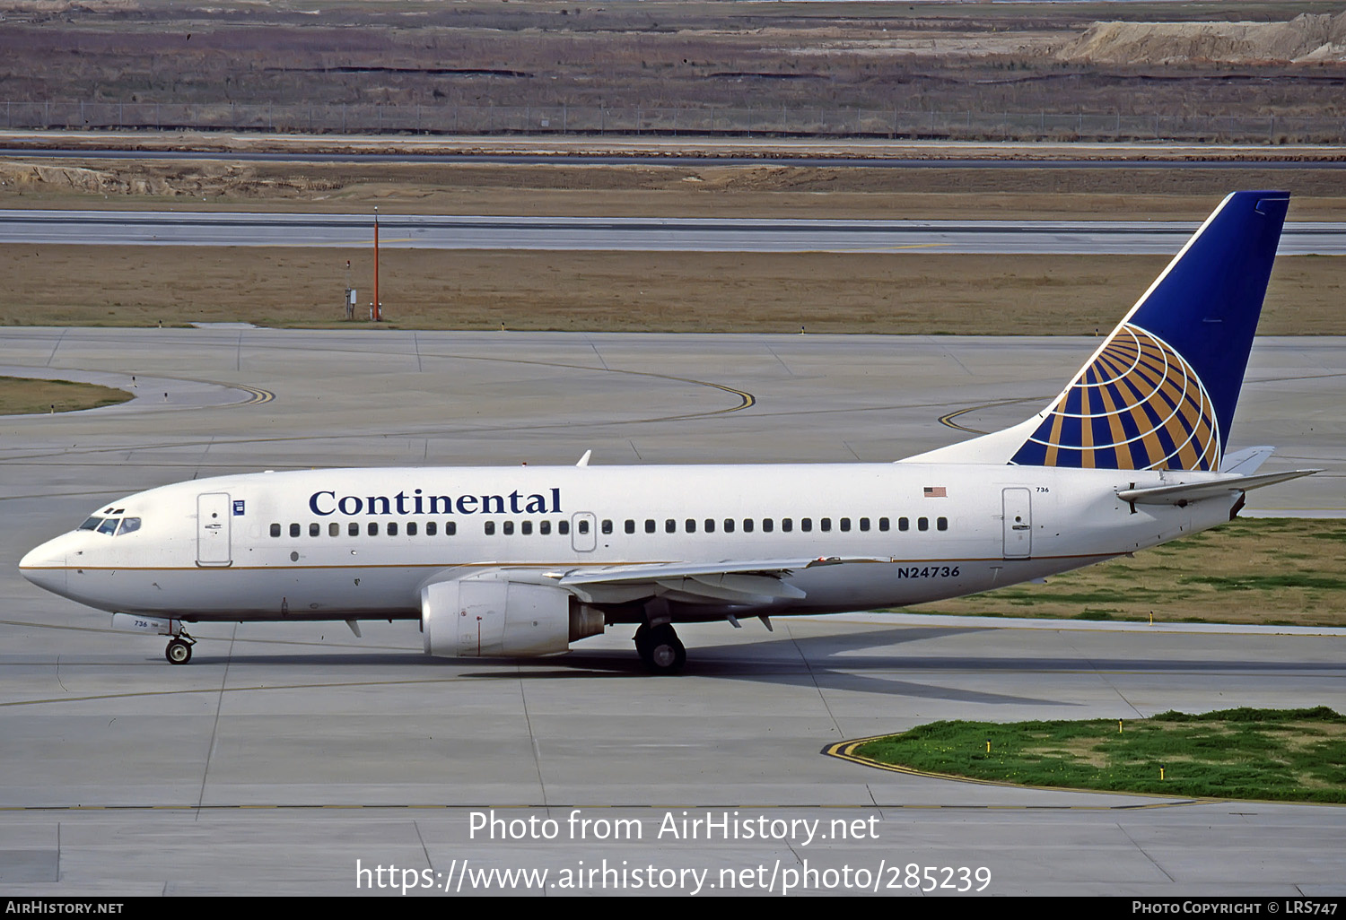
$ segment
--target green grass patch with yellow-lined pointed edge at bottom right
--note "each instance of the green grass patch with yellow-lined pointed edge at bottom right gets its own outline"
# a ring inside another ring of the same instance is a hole
[[[1168,712],[1123,720],[1120,729],[1117,720],[931,722],[868,741],[855,753],[930,773],[1022,785],[1346,802],[1346,716],[1326,706]]]

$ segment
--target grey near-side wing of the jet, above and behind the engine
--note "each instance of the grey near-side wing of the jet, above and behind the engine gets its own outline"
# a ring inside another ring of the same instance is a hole
[[[765,604],[806,595],[786,578],[798,569],[883,558],[725,560],[721,562],[646,562],[551,573],[556,584],[592,603],[666,597],[692,604]]]

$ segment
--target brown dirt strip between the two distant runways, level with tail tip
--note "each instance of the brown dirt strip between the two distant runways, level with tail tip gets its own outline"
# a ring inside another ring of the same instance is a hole
[[[257,139],[265,149],[265,139]],[[1141,155],[1141,159],[1148,155]],[[1316,155],[1315,155],[1316,156]],[[1296,221],[1346,219],[1339,168],[929,168],[723,164],[240,163],[13,159],[5,208],[890,219],[1198,221],[1232,188],[1284,188]],[[1044,163],[1043,167],[1050,167]]]

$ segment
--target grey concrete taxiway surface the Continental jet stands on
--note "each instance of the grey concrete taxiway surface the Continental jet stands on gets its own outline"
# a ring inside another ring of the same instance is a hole
[[[966,866],[970,888],[984,868],[1000,894],[1346,893],[1342,808],[950,783],[820,753],[937,718],[1346,712],[1346,636],[1331,631],[779,619],[774,634],[684,628],[686,673],[651,679],[623,631],[553,659],[447,660],[423,656],[409,623],[363,624],[362,639],[246,624],[198,628],[192,663],[171,667],[159,639],[112,632],[15,569],[100,503],[241,469],[586,449],[595,464],[890,460],[965,436],[941,417],[981,430],[1026,417],[1094,346],[11,330],[4,373],[128,387],[135,374],[137,398],[0,420],[0,882],[19,896],[412,881],[914,894],[925,868],[950,892]],[[1346,339],[1259,340],[1232,444],[1279,444],[1276,468],[1326,472],[1260,490],[1252,508],[1346,511],[1343,405]],[[493,869],[549,874],[476,874]]]

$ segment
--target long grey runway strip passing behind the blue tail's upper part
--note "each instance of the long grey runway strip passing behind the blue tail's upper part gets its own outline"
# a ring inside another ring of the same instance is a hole
[[[385,215],[393,249],[530,249],[736,253],[1170,254],[1182,221],[801,221]],[[132,246],[363,246],[367,214],[0,211],[0,243]],[[1281,256],[1346,254],[1346,225],[1291,222]]]

